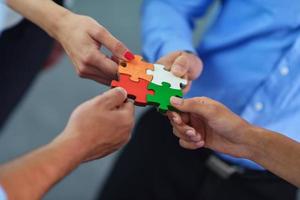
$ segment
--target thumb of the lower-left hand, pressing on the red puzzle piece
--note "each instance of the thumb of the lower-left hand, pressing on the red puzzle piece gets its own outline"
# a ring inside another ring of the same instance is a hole
[[[115,109],[123,105],[127,99],[127,92],[121,87],[116,87],[103,93],[99,98],[101,103],[107,109]]]

